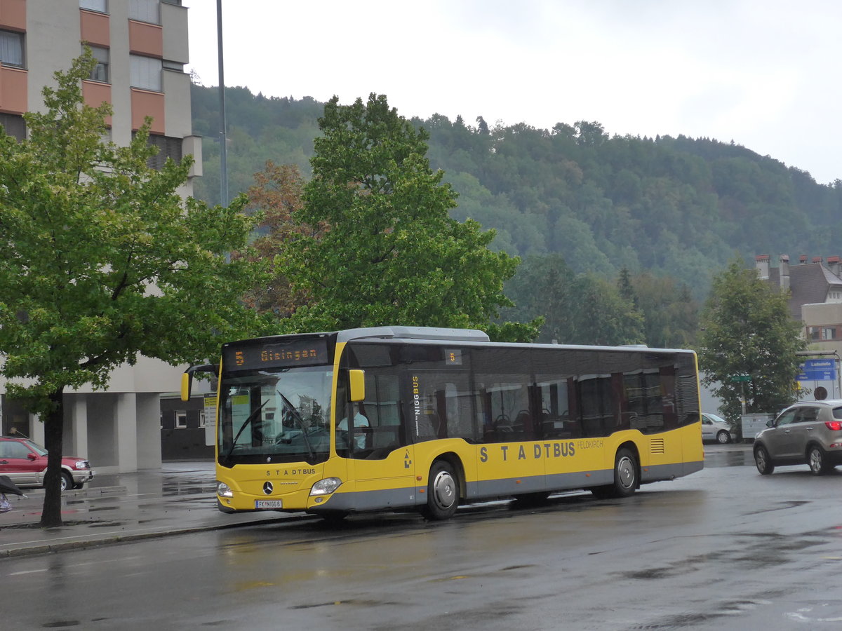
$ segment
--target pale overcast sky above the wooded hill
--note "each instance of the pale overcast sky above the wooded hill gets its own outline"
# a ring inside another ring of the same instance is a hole
[[[219,85],[216,0],[184,5]],[[839,0],[222,0],[222,21],[226,85],[253,93],[705,136],[842,178]]]

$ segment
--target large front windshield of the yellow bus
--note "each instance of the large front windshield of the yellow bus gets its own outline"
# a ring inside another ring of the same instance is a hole
[[[327,460],[332,384],[325,366],[223,374],[219,464]]]

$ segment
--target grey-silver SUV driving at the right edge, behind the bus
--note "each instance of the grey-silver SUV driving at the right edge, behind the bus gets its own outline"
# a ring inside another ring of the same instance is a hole
[[[807,464],[813,475],[842,464],[842,400],[789,406],[754,437],[754,464],[763,475],[775,466]]]

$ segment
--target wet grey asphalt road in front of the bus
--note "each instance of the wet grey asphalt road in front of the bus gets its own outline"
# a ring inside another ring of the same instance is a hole
[[[497,502],[0,561],[3,629],[836,629],[842,468],[750,453],[632,498]],[[11,604],[13,603],[13,604]]]

